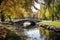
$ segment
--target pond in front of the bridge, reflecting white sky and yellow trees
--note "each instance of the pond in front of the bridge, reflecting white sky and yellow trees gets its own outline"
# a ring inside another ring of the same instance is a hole
[[[60,35],[57,35],[53,31],[38,27],[25,29],[23,28],[23,35],[27,36],[26,40],[59,40]]]

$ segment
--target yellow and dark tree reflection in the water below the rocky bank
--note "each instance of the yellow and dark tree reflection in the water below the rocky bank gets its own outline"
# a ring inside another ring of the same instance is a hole
[[[39,32],[40,32],[40,35],[41,35],[40,37],[44,38],[44,36],[45,36],[46,40],[56,40],[57,39],[56,34],[52,31],[47,30],[47,29],[39,28]]]

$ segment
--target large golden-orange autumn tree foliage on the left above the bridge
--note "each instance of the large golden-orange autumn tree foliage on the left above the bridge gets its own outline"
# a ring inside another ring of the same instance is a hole
[[[24,18],[24,13],[31,14],[33,1],[34,0],[3,0],[0,10],[3,10],[2,12],[6,14],[6,17],[11,13],[11,17]]]

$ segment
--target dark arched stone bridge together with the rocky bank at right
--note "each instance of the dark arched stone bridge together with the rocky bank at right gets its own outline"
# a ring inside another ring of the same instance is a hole
[[[38,23],[38,21],[36,20],[26,20],[26,19],[21,19],[21,20],[15,20],[13,21],[12,23],[3,23],[3,24],[9,24],[9,25],[15,25],[15,26],[23,26],[24,22],[30,22],[31,24],[27,26],[26,24],[26,27],[25,28],[28,28],[30,26],[36,26],[38,25],[39,27],[42,27],[44,29],[48,29],[49,31],[53,31],[55,33],[58,33],[60,35],[60,27],[56,27],[56,26],[53,26],[53,25],[46,25],[46,24],[41,24],[41,23]],[[36,26],[37,27],[37,26]]]

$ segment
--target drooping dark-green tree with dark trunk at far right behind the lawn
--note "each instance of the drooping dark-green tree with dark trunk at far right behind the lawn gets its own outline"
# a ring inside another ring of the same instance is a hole
[[[55,18],[59,19],[60,0],[44,0],[44,2],[47,5],[46,7],[48,8],[52,21],[54,21]]]

